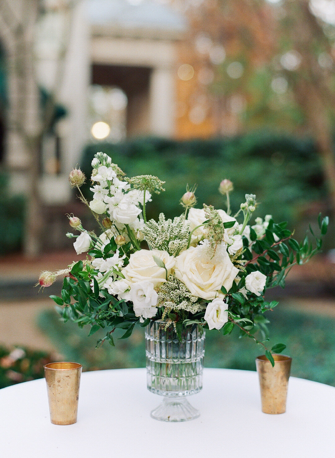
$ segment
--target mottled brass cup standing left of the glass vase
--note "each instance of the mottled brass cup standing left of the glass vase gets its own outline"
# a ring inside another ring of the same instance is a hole
[[[82,365],[49,363],[44,366],[50,420],[54,425],[72,425],[77,421]]]

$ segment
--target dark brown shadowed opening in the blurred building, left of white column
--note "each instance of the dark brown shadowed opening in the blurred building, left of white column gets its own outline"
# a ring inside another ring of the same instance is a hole
[[[127,136],[149,134],[150,75],[151,69],[146,67],[92,65],[92,84],[120,87],[127,95]]]

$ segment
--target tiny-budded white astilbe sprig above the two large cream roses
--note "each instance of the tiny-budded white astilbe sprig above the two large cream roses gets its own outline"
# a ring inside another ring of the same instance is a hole
[[[184,215],[173,219],[165,219],[160,213],[158,222],[150,219],[142,229],[149,245],[156,250],[165,250],[170,256],[177,256],[186,248],[190,231],[185,223]]]

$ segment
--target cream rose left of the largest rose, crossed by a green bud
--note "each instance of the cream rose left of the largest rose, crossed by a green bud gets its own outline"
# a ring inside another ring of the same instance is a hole
[[[164,267],[158,267],[154,256],[159,257],[165,264],[168,276],[175,265],[175,258],[167,251],[160,250],[139,250],[130,255],[128,266],[121,270],[125,281],[131,285],[144,280],[149,280],[154,287],[166,281]]]

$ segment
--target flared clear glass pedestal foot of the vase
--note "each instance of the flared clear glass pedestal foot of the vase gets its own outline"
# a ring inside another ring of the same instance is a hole
[[[199,410],[194,409],[184,397],[165,396],[160,405],[151,412],[152,418],[160,421],[188,421],[198,418],[199,415]]]

